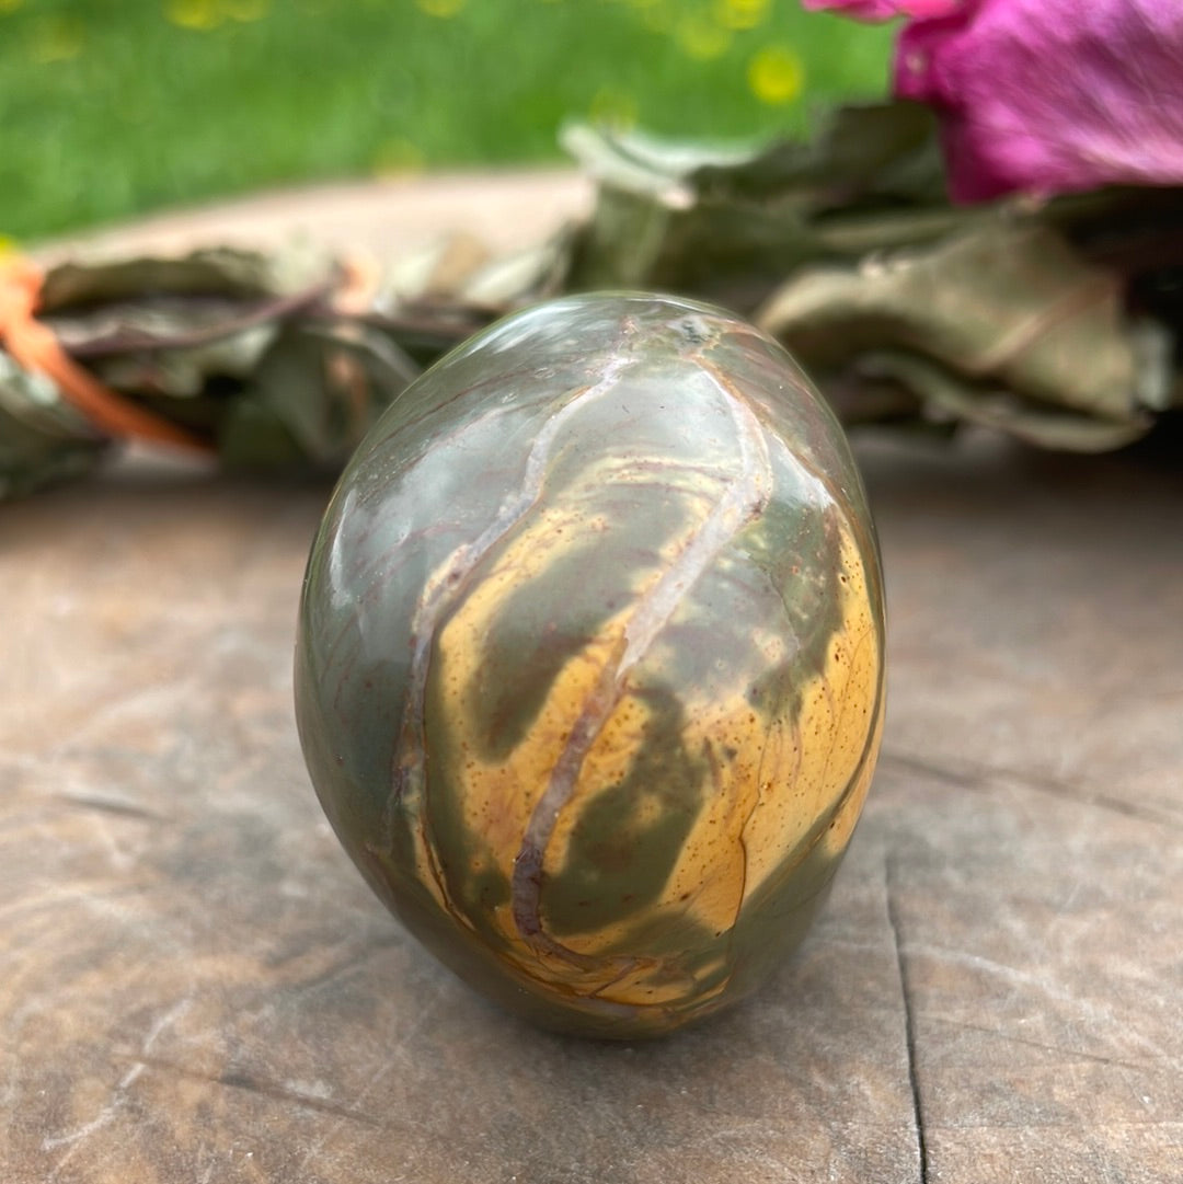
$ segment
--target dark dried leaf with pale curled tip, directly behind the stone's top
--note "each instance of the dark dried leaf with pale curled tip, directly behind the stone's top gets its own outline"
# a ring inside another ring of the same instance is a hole
[[[568,150],[600,182],[573,285],[668,289],[746,311],[805,263],[881,245],[885,220],[889,243],[939,234],[973,215],[933,215],[934,128],[911,103],[843,109],[811,142],[745,152],[570,128]]]

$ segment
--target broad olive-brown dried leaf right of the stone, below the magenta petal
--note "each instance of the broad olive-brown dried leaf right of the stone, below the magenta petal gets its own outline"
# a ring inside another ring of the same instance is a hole
[[[958,381],[1142,425],[1145,392],[1165,391],[1169,373],[1124,296],[1119,275],[1086,262],[1052,226],[1003,212],[934,246],[804,271],[758,320],[819,372],[904,350]]]

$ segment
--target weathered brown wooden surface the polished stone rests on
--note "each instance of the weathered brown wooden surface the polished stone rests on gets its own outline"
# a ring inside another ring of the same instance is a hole
[[[860,442],[863,821],[767,990],[634,1045],[484,1004],[323,821],[290,664],[326,488],[133,458],[0,508],[0,1182],[1183,1180],[1181,452]]]

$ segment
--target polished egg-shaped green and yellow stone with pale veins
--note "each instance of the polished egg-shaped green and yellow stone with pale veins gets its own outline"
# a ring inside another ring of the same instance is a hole
[[[313,546],[296,654],[326,813],[386,905],[547,1027],[742,998],[846,850],[883,709],[874,530],[773,342],[555,301],[416,382]]]

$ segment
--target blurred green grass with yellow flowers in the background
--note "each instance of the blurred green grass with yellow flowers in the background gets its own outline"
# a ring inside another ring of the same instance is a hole
[[[0,0],[0,237],[557,162],[571,117],[799,131],[883,94],[889,36],[797,0]]]

